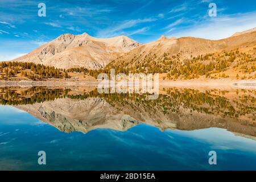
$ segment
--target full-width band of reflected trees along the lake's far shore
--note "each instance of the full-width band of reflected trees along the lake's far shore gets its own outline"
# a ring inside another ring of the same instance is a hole
[[[200,92],[193,89],[170,88],[166,92],[167,94],[160,94],[157,100],[147,100],[147,94],[99,94],[97,89],[89,93],[71,94],[71,89],[32,87],[18,91],[11,88],[2,88],[0,89],[0,104],[26,105],[53,101],[56,98],[85,100],[89,97],[100,97],[119,110],[129,107],[134,111],[144,111],[148,114],[158,110],[163,114],[177,113],[181,115],[184,111],[188,111],[190,113],[217,114],[231,118],[247,116],[253,120],[255,119],[256,98],[244,91],[238,100],[230,100],[221,96],[221,94],[225,95],[226,92],[214,94],[211,90]]]

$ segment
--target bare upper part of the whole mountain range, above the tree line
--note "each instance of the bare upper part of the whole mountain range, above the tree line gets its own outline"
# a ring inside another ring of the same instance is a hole
[[[137,61],[143,67],[146,63],[141,63],[142,60],[150,54],[155,55],[152,58],[155,61],[162,61],[166,53],[170,56],[179,55],[182,62],[184,59],[206,53],[236,49],[245,44],[249,46],[256,44],[256,28],[234,35],[220,40],[161,36],[155,42],[140,44],[123,35],[104,39],[94,38],[86,33],[63,34],[12,61],[32,62],[65,69],[76,67],[102,69],[115,65],[131,65]]]

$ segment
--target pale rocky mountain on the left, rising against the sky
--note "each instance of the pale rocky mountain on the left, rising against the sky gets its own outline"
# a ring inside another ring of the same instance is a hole
[[[75,67],[97,69],[105,67],[116,57],[139,45],[140,43],[127,36],[100,39],[86,33],[64,34],[13,61],[32,62],[63,69]]]

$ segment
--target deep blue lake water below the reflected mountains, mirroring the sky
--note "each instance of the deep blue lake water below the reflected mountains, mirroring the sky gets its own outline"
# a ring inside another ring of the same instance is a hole
[[[256,141],[225,129],[63,133],[12,106],[0,106],[0,169],[22,170],[256,170]],[[46,165],[38,152],[46,152]],[[209,151],[217,165],[209,165]]]

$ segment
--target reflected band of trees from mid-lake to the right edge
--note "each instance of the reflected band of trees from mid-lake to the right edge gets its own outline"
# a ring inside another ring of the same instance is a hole
[[[158,100],[146,100],[145,95],[108,94],[104,97],[111,105],[122,109],[132,105],[135,110],[141,108],[152,111],[159,110],[163,114],[183,113],[184,109],[191,113],[218,114],[222,117],[238,118],[250,115],[255,119],[255,97],[243,95],[241,100],[229,100],[224,96],[210,92],[199,92],[192,89],[168,89],[167,95],[160,94]]]

